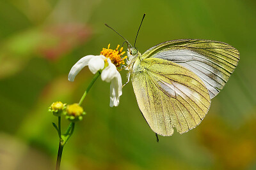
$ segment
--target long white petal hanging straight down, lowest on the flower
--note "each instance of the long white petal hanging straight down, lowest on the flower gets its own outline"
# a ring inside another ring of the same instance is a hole
[[[122,95],[122,77],[120,73],[118,72],[111,80],[110,83],[110,103],[109,106],[118,106],[120,96]]]

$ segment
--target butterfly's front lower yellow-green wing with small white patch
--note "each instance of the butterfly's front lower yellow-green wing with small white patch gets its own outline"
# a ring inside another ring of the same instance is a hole
[[[138,59],[137,63],[131,74],[132,85],[152,131],[171,136],[173,127],[182,134],[200,124],[211,99],[195,73],[164,59]]]

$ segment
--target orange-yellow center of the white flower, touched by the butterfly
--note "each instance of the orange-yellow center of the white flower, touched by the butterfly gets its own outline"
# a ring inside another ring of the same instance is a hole
[[[121,64],[125,64],[124,59],[127,58],[127,56],[121,58],[120,56],[123,55],[125,52],[122,52],[124,49],[123,47],[118,50],[120,45],[117,45],[115,50],[109,49],[110,44],[107,48],[102,48],[102,51],[100,52],[101,55],[104,55],[105,57],[109,58],[113,64],[115,64],[116,67],[120,67]]]

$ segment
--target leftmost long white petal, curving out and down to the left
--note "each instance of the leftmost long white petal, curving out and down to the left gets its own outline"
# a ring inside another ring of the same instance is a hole
[[[78,60],[76,64],[70,69],[68,74],[68,81],[74,81],[76,75],[83,69],[83,67],[88,66],[88,62],[92,59],[94,55],[86,55],[82,59]]]

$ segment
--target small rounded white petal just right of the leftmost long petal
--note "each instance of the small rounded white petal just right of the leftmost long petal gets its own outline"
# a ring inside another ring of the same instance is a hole
[[[93,74],[97,73],[97,71],[104,68],[104,59],[106,59],[104,55],[97,55],[90,59],[88,67]]]

